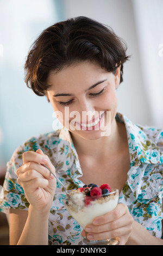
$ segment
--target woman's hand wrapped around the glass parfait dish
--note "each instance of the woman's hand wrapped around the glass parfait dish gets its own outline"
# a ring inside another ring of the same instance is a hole
[[[118,204],[114,210],[95,218],[92,224],[85,227],[87,239],[103,240],[118,237],[119,245],[125,245],[132,231],[133,222],[128,207]],[[82,235],[85,235],[84,230]]]

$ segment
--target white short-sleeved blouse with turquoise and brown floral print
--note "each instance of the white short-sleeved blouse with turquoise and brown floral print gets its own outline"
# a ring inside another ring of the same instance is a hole
[[[152,235],[162,237],[163,197],[163,130],[133,124],[117,113],[116,120],[126,125],[130,153],[128,179],[120,193],[119,203],[126,204],[134,220]],[[27,150],[41,148],[56,168],[58,178],[67,190],[83,186],[78,178],[82,169],[70,132],[62,129],[28,139],[15,150],[7,163],[7,173],[1,193],[2,212],[9,209],[28,210],[29,203],[23,188],[17,183],[16,170],[22,166],[22,154]],[[3,196],[3,198],[2,198]],[[49,214],[49,245],[85,245],[82,227],[65,209],[65,192],[57,182],[52,208]]]

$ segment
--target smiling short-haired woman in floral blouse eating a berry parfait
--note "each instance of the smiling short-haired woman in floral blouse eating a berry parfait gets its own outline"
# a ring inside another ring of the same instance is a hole
[[[86,17],[57,23],[34,42],[27,86],[47,96],[65,129],[30,138],[8,163],[1,210],[10,213],[11,244],[85,244],[46,163],[67,190],[108,183],[120,191],[115,210],[87,225],[89,240],[163,245],[163,131],[117,113],[126,51],[110,28]]]

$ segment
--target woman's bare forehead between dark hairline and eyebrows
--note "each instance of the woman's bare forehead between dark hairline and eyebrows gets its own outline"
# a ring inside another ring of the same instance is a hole
[[[98,64],[91,62],[82,62],[72,64],[61,69],[58,72],[51,72],[48,76],[47,83],[51,85],[48,90],[61,90],[69,88],[87,89],[92,84],[104,80],[109,75]]]

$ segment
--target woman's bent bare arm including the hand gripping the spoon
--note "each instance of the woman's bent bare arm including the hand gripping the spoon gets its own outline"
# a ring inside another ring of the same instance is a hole
[[[56,180],[42,163],[55,173],[55,168],[37,150],[23,154],[23,165],[17,169],[17,182],[22,186],[29,202],[29,209],[10,210],[10,244],[48,245],[48,217],[53,202]]]

